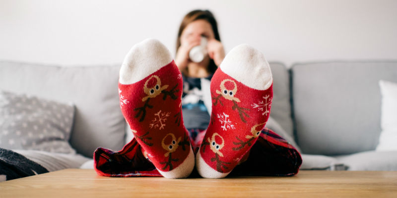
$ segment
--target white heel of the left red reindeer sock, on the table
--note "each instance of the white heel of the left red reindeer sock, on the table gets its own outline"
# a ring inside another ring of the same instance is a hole
[[[195,168],[195,154],[193,153],[192,147],[189,147],[190,151],[186,159],[180,164],[178,167],[171,171],[160,171],[159,169],[158,172],[164,176],[165,178],[171,178],[171,179],[176,179],[176,178],[186,178],[189,177],[189,175],[192,173],[193,168]]]

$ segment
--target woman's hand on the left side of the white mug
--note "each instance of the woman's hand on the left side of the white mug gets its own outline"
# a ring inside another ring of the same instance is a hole
[[[200,45],[200,40],[195,38],[190,38],[186,43],[182,43],[181,46],[177,50],[177,54],[175,57],[175,63],[177,64],[179,70],[185,69],[189,62],[189,51],[195,47]]]

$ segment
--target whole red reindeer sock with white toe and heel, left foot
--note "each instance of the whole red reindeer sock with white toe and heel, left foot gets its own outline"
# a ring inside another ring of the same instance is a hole
[[[120,107],[134,138],[167,178],[192,172],[195,157],[183,125],[182,76],[170,52],[147,39],[128,52],[120,69]]]

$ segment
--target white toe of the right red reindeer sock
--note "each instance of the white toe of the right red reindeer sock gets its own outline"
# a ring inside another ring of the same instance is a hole
[[[267,90],[273,82],[270,66],[264,54],[246,44],[230,50],[220,64],[220,69],[244,85],[257,90]]]

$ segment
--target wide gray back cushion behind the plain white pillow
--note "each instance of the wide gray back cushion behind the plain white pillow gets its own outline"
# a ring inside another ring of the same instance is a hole
[[[380,134],[379,80],[397,81],[397,62],[295,64],[296,139],[309,154],[373,150]]]

